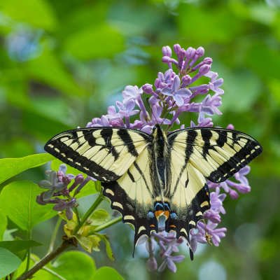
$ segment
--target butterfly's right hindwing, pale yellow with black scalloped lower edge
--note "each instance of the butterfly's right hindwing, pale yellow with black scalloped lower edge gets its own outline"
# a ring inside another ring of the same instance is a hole
[[[196,228],[197,222],[210,208],[209,188],[202,173],[186,158],[181,146],[170,143],[171,180],[165,190],[165,201],[170,212],[165,223],[166,231],[174,230],[176,237],[185,237]]]

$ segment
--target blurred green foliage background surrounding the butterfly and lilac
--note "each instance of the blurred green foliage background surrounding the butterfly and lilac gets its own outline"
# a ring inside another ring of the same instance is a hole
[[[182,247],[187,258],[176,274],[150,273],[143,246],[132,258],[132,230],[114,225],[106,233],[116,260],[94,252],[97,267],[132,280],[280,279],[279,7],[279,0],[0,1],[0,158],[41,153],[53,135],[106,113],[125,85],[153,83],[167,69],[162,46],[174,43],[202,45],[224,79],[214,125],[232,123],[263,146],[251,163],[251,193],[225,200],[221,246],[200,246],[193,262]],[[43,170],[14,180],[36,182]],[[48,242],[53,222],[39,224],[33,239]]]

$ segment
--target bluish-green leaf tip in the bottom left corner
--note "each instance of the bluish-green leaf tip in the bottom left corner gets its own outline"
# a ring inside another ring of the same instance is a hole
[[[0,248],[0,278],[14,272],[20,266],[21,260],[6,248]]]

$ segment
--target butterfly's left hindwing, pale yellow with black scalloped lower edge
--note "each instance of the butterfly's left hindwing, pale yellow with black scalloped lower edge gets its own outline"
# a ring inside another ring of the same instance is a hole
[[[120,179],[102,183],[112,209],[123,215],[123,223],[134,225],[134,248],[142,235],[150,237],[152,230],[158,232],[154,204],[156,200],[162,201],[162,197],[154,170],[152,152],[146,148]]]

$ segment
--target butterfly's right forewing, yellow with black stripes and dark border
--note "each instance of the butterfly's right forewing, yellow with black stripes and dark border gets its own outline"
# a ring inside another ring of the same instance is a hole
[[[235,130],[190,128],[168,136],[176,150],[209,181],[221,183],[262,152],[252,137]]]

